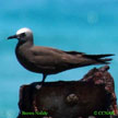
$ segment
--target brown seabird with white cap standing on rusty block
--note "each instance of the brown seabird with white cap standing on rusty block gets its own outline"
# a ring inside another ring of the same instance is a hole
[[[49,74],[91,64],[107,64],[111,58],[105,57],[114,56],[113,54],[86,55],[84,52],[34,46],[33,33],[26,27],[8,37],[8,39],[11,38],[17,38],[19,40],[15,48],[19,62],[32,72],[43,73],[43,83]]]

